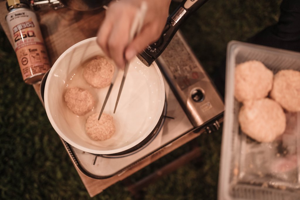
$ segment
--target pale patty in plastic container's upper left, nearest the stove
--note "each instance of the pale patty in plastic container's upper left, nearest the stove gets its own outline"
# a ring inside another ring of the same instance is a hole
[[[240,101],[266,97],[272,88],[273,72],[260,61],[247,61],[235,67],[235,98]]]

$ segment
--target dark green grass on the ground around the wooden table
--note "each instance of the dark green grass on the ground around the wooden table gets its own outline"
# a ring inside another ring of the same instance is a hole
[[[248,37],[276,22],[279,0],[210,0],[183,25],[182,32],[205,70],[223,64],[230,40]],[[34,89],[26,85],[0,31],[0,199],[89,199]],[[217,198],[221,131],[197,139],[202,156],[144,189],[144,199]],[[131,176],[137,181],[179,157],[188,145]],[[122,183],[93,199],[133,199]]]

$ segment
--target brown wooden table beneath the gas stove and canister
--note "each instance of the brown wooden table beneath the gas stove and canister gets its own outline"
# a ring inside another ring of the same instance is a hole
[[[5,16],[8,13],[6,6],[6,1],[0,2],[0,24],[5,31],[10,43],[12,43],[12,38],[10,37],[7,23],[5,21]],[[82,41],[86,38],[95,37],[98,31],[101,22],[104,19],[105,11],[104,9],[99,9],[95,11],[81,12],[74,11],[67,8],[60,10],[47,10],[37,12],[39,17],[39,22],[41,26],[41,31],[45,40],[46,48],[50,58],[50,63],[53,65],[56,59],[70,46],[73,44]],[[25,83],[24,83],[25,84]],[[39,84],[33,85],[35,91],[37,92],[39,98],[41,99]],[[164,155],[170,153],[171,151],[179,148],[190,140],[199,136],[204,130],[198,133],[187,133],[181,138],[173,142],[172,145],[168,145],[159,151],[155,152],[151,156],[140,161],[136,165],[132,166],[125,172],[122,172],[119,175],[107,179],[93,179],[84,175],[75,165],[73,159],[72,162],[86,187],[89,195],[95,196],[98,193],[101,193],[107,187],[115,184],[118,181],[125,179],[126,177],[134,174],[138,170],[144,168],[150,163],[158,160]],[[186,155],[180,157],[178,160],[173,161],[169,165],[163,167],[161,170],[156,171],[151,176],[145,178],[137,184],[131,185],[129,190],[133,191],[135,188],[143,187],[146,182],[151,182],[163,174],[169,173],[172,170],[176,169],[178,166],[187,163],[195,157],[200,155],[199,148],[195,148],[193,151],[187,153]]]

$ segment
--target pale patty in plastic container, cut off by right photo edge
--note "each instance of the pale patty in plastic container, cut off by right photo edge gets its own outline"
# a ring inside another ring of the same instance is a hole
[[[300,72],[281,70],[274,76],[272,99],[290,112],[300,111]]]

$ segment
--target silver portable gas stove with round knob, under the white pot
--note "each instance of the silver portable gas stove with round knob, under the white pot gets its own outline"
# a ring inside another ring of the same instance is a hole
[[[119,175],[187,133],[219,129],[223,101],[180,32],[161,54],[158,65],[164,74],[166,104],[153,137],[135,151],[122,155],[90,154],[63,141],[83,174],[95,179]]]

